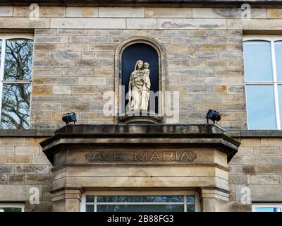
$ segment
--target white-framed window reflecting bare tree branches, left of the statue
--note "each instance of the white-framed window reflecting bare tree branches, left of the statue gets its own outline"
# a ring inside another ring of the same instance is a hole
[[[28,129],[32,84],[32,35],[0,34],[0,128]]]

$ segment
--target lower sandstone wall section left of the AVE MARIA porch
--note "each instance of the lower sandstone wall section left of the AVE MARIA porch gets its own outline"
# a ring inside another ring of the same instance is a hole
[[[25,211],[51,211],[51,164],[39,145],[45,138],[0,138],[0,203],[25,203]],[[31,188],[39,205],[29,202]]]

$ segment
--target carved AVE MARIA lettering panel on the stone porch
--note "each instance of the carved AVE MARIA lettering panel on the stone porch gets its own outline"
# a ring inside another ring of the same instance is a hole
[[[185,151],[95,151],[88,155],[91,162],[193,162],[197,155]]]

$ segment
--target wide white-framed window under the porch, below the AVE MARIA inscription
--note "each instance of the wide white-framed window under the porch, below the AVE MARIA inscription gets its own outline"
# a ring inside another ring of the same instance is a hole
[[[195,212],[197,194],[85,194],[82,212]]]

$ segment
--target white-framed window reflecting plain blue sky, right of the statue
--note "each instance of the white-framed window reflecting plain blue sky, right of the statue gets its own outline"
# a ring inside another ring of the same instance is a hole
[[[282,36],[243,42],[248,129],[282,128]]]

